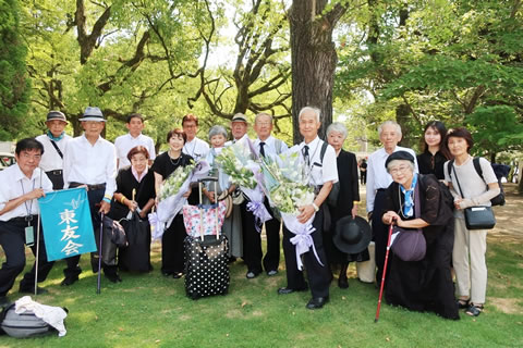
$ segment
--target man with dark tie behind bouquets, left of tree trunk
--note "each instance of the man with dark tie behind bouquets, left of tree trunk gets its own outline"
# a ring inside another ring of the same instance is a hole
[[[258,150],[259,156],[280,154],[289,148],[285,142],[275,138],[270,135],[272,132],[272,116],[267,113],[259,113],[254,119],[254,132],[258,135],[254,141],[254,147]],[[271,211],[269,200],[265,198],[265,207],[267,211]],[[265,233],[267,236],[267,253],[263,258],[264,269],[267,275],[272,276],[278,273],[278,265],[280,264],[280,225],[281,223],[273,217],[265,223]],[[254,216],[253,216],[254,217]],[[245,241],[247,249],[246,254],[251,254],[254,269],[262,268],[262,238],[256,231],[250,231],[250,235],[245,235],[248,240]]]

